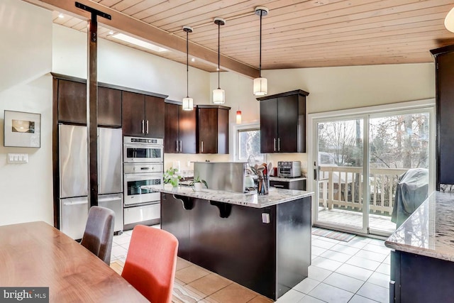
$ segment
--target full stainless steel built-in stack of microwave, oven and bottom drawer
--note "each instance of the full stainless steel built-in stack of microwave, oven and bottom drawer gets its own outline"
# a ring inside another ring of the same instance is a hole
[[[124,228],[160,222],[160,193],[143,185],[163,182],[162,139],[123,138]],[[142,162],[139,162],[142,160]]]

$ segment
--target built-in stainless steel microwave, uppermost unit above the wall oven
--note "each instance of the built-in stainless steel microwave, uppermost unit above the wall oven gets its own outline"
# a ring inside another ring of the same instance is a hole
[[[163,139],[123,137],[123,162],[162,163],[163,161]]]

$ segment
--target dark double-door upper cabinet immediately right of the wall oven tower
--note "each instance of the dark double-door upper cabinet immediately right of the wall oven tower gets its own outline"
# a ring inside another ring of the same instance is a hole
[[[196,111],[183,111],[181,102],[165,103],[165,153],[196,153]]]

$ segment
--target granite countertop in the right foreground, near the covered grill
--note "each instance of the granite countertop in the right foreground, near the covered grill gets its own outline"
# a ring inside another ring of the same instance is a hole
[[[433,192],[384,242],[395,250],[454,261],[454,194]]]

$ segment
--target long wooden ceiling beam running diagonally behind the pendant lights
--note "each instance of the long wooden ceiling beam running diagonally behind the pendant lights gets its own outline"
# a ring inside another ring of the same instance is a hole
[[[88,20],[90,14],[87,11],[82,11],[77,9],[74,6],[74,0],[23,0],[31,4],[45,7],[46,9],[65,11],[70,13],[72,16],[77,16],[78,18],[84,18]],[[172,35],[167,31],[162,31],[160,28],[151,26],[148,23],[140,21],[138,19],[127,16],[124,13],[111,9],[109,7],[103,6],[91,0],[79,0],[81,4],[92,7],[99,11],[103,11],[112,16],[111,20],[100,20],[99,23],[104,24],[109,28],[114,28],[116,31],[132,35],[135,38],[140,38],[143,40],[148,40],[150,43],[161,46],[162,48],[167,48],[169,50],[177,51],[180,53],[186,53],[186,40],[178,37],[177,35]],[[188,24],[190,26],[190,24]],[[182,30],[183,31],[183,30]],[[189,41],[189,55],[198,58],[199,60],[209,63],[217,67],[218,65],[218,53],[214,50],[204,48],[201,45],[192,43]],[[237,72],[241,75],[247,77],[255,78],[258,77],[258,69],[251,67],[250,65],[245,65],[242,62],[231,59],[231,57],[226,57],[221,55],[221,69],[228,70],[231,72]]]

